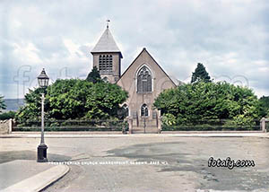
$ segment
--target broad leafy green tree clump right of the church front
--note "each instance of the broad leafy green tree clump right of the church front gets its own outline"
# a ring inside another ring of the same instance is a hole
[[[161,109],[166,125],[229,119],[231,125],[244,126],[259,118],[252,90],[229,83],[184,84],[161,92],[153,106]]]

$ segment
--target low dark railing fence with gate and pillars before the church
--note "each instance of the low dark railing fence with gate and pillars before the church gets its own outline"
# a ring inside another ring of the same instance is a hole
[[[130,121],[131,120],[131,121]],[[130,122],[134,119],[129,119]],[[46,120],[45,131],[122,131],[127,133],[129,130],[135,129],[134,122],[130,123],[127,120],[114,119],[91,119],[91,120]],[[155,122],[155,119],[154,119]],[[161,121],[160,121],[161,124]],[[144,122],[139,124],[143,128]],[[148,123],[146,130],[151,129]],[[152,130],[159,128],[158,123],[152,126]],[[157,129],[156,129],[157,130]],[[191,123],[182,123],[180,125],[168,126],[162,124],[161,131],[269,131],[269,118],[256,119],[247,122],[244,126],[233,125],[233,122],[228,119],[200,120]],[[0,121],[0,134],[10,134],[16,131],[40,131],[40,121],[27,121],[22,125],[16,125],[13,120]],[[160,133],[158,131],[158,133]]]

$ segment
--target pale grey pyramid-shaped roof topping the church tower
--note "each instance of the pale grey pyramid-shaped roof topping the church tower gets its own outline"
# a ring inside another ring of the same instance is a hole
[[[103,32],[102,36],[100,37],[99,41],[95,45],[95,47],[91,50],[91,53],[104,53],[104,52],[115,52],[122,54],[117,47],[117,44],[109,31],[108,27],[106,31]]]

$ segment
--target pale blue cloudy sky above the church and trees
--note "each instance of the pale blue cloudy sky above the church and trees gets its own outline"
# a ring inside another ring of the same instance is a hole
[[[22,98],[42,68],[50,83],[86,78],[108,19],[122,74],[147,48],[182,82],[203,63],[216,82],[269,95],[267,0],[1,0],[0,95]]]

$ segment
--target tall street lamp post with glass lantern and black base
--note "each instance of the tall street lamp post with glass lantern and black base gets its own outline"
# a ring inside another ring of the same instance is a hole
[[[43,88],[44,91],[48,86],[48,75],[43,68],[41,74],[38,76],[39,87]],[[48,146],[45,144],[44,141],[44,100],[45,100],[45,92],[41,93],[41,142],[38,146],[38,162],[46,162],[47,159],[47,149]]]

